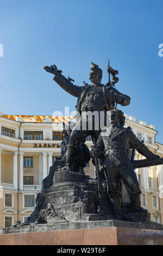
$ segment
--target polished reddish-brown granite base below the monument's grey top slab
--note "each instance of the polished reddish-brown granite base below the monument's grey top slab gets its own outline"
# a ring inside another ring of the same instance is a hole
[[[0,235],[0,245],[163,245],[163,230],[88,228]]]

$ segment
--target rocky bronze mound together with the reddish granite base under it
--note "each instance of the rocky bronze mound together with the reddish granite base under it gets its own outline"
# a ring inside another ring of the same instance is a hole
[[[33,212],[27,223],[4,228],[0,244],[163,245],[163,225],[151,222],[148,215],[142,218],[143,223],[139,218],[137,222],[112,220],[104,181],[101,193],[103,216],[97,210],[97,180],[71,171],[54,172],[53,185],[46,187],[36,214]],[[35,221],[39,215],[43,223],[38,218]]]

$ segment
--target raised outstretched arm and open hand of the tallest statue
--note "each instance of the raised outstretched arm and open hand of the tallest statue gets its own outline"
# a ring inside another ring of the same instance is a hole
[[[53,80],[59,84],[59,86],[61,88],[63,88],[64,90],[66,90],[67,93],[70,93],[71,95],[78,97],[80,93],[83,92],[83,86],[75,86],[73,83],[71,83],[65,76],[62,76],[60,74],[60,70],[57,70],[57,66],[55,65],[51,65],[51,67],[49,66],[45,66],[44,69],[55,75],[55,77],[53,78]]]

